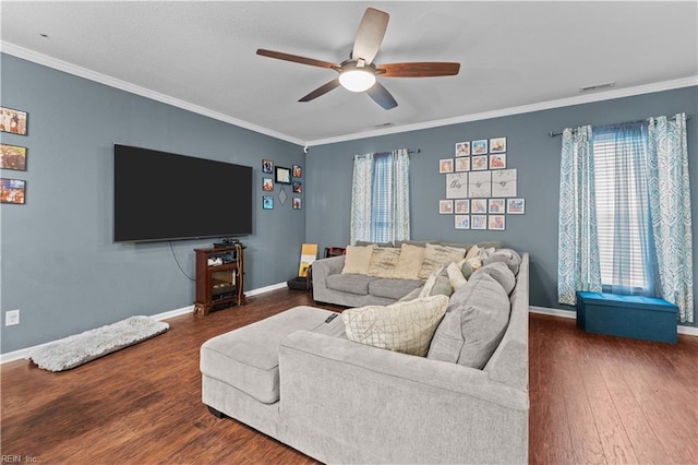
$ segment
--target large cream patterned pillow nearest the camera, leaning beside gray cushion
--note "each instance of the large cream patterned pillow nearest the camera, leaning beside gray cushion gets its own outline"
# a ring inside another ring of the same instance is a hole
[[[424,357],[446,307],[448,297],[432,296],[347,309],[341,319],[349,341]]]

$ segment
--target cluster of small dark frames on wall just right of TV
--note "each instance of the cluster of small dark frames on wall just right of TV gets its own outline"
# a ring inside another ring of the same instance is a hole
[[[288,201],[287,189],[291,191],[291,208],[302,210],[303,199],[298,194],[303,193],[303,167],[300,165],[291,165],[290,168],[276,166],[270,159],[262,160],[262,210],[274,210],[274,191],[276,186],[280,186],[278,190],[278,202],[286,205]]]

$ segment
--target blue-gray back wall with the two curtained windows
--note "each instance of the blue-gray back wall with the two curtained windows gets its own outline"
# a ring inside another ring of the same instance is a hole
[[[601,126],[685,111],[688,121],[689,170],[693,192],[698,191],[698,87],[645,94],[592,104],[542,110],[503,118],[425,129],[312,147],[308,155],[306,241],[328,246],[349,242],[351,171],[354,154],[420,148],[411,156],[411,220],[413,239],[473,242],[497,239],[530,253],[530,303],[570,309],[557,303],[557,212],[561,138],[551,131],[580,124]],[[445,176],[438,160],[454,156],[460,141],[507,138],[507,168],[518,170],[518,196],[526,199],[525,215],[507,215],[504,231],[454,228],[452,215],[438,214],[446,196]],[[698,238],[698,201],[693,195],[694,243]],[[694,246],[694,263],[698,264]],[[694,271],[698,266],[694,266]],[[694,296],[698,277],[694,275]],[[698,303],[694,301],[698,310]],[[694,323],[693,325],[698,325]]]

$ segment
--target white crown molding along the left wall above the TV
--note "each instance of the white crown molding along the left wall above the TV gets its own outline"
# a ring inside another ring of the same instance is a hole
[[[251,122],[243,121],[241,119],[232,118],[228,115],[224,115],[218,111],[214,111],[198,105],[190,104],[189,102],[180,100],[179,98],[174,98],[166,94],[160,94],[159,92],[155,92],[149,88],[142,87],[140,85],[131,84],[127,81],[111,78],[107,74],[101,74],[96,71],[88,70],[86,68],[77,67],[67,61],[62,61],[62,60],[49,57],[47,55],[38,53],[34,50],[29,50],[27,48],[16,46],[14,44],[11,44],[4,40],[0,41],[0,51],[2,51],[3,53],[12,55],[13,57],[22,58],[23,60],[32,61],[37,64],[41,64],[58,71],[63,71],[65,73],[76,75],[79,78],[84,78],[86,80],[94,81],[99,84],[108,85],[110,87],[125,91],[131,94],[140,95],[141,97],[146,97],[152,100],[171,105],[173,107],[181,108],[186,111],[203,115],[205,117],[213,118],[218,121],[227,122],[229,124],[248,129],[250,131],[258,132],[261,134],[268,135],[270,138],[279,139],[293,144],[298,144],[298,145],[304,145],[304,142],[298,138],[293,138],[291,135],[288,135],[281,132],[273,131],[268,128],[263,128],[261,126],[256,126]]]

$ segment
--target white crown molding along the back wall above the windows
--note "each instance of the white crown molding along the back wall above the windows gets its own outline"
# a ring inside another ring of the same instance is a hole
[[[653,84],[639,85],[635,87],[618,88],[607,92],[594,93],[589,95],[580,95],[577,97],[561,98],[556,100],[541,102],[539,104],[522,105],[519,107],[503,108],[493,111],[484,111],[480,114],[464,115],[454,118],[446,118],[433,121],[424,121],[416,124],[398,126],[386,129],[376,129],[373,131],[339,135],[337,138],[318,139],[315,141],[306,141],[306,145],[325,145],[337,142],[347,142],[358,139],[376,138],[380,135],[397,134],[400,132],[419,131],[422,129],[431,129],[443,126],[460,124],[464,122],[481,121],[492,118],[502,118],[513,115],[529,114],[533,111],[549,110],[553,108],[569,107],[573,105],[590,104],[593,102],[613,100],[616,98],[631,97],[642,94],[651,94],[654,92],[672,91],[682,87],[691,87],[698,85],[698,76],[685,78],[674,81],[664,81]]]

